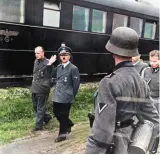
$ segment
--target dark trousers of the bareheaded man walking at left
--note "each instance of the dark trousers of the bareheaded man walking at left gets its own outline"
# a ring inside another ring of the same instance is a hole
[[[36,127],[42,128],[43,122],[47,122],[51,116],[46,113],[46,104],[49,94],[32,93],[33,109],[36,113]]]

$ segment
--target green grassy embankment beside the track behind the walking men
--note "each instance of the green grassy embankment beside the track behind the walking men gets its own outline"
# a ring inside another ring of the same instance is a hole
[[[93,93],[97,84],[82,84],[75,104],[71,109],[71,119],[77,123],[87,121],[88,111],[93,109]],[[51,95],[48,100],[47,110],[52,114]],[[52,114],[53,116],[53,114]],[[35,125],[32,108],[31,92],[29,88],[0,89],[0,144],[8,143],[13,139],[31,134]],[[45,127],[54,130],[58,123],[53,117]]]

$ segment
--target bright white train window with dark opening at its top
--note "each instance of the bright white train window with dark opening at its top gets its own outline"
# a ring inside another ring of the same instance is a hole
[[[60,3],[53,0],[44,1],[43,25],[59,27],[60,23]]]

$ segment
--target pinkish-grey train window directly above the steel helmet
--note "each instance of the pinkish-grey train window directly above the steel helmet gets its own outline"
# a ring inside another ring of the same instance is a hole
[[[120,26],[127,26],[127,22],[128,22],[128,16],[114,14],[112,30]]]

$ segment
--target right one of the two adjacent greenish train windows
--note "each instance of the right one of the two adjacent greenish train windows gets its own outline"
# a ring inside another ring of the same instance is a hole
[[[99,10],[93,10],[92,15],[92,32],[106,32],[107,13]]]

